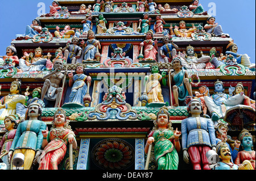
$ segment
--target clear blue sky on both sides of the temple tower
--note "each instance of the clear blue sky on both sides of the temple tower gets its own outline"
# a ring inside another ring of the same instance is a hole
[[[26,26],[38,16],[40,2],[46,5],[48,13],[52,0],[0,1],[0,56],[5,55],[15,35],[24,33]],[[251,63],[255,63],[255,0],[200,0],[199,3],[208,13],[212,13],[212,3],[216,5],[216,22],[238,45],[238,53],[248,54]]]

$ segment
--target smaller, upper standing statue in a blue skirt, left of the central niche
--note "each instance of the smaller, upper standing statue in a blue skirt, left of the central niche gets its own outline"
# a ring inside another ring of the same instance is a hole
[[[84,60],[85,61],[94,61],[95,59],[99,60],[99,51],[98,49],[101,49],[100,41],[95,39],[94,32],[92,30],[88,31],[88,40],[81,41],[82,49],[84,50]]]

